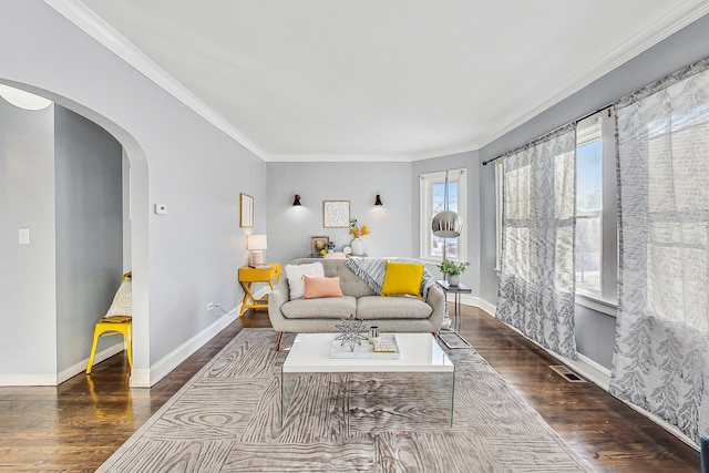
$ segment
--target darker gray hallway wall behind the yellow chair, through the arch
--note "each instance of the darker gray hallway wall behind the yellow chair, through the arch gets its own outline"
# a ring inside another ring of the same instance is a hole
[[[56,364],[86,359],[93,328],[123,270],[121,144],[105,130],[55,105]],[[102,338],[99,351],[122,337]]]

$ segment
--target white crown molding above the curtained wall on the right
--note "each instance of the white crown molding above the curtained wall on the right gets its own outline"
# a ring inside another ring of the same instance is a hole
[[[497,140],[499,137],[502,137],[506,133],[510,133],[511,131],[515,130],[517,126],[525,124],[526,122],[528,122],[530,120],[538,115],[540,113],[546,111],[547,109],[551,109],[552,106],[562,102],[564,99],[569,97],[574,93],[589,85],[592,82],[603,78],[605,74],[609,73],[614,69],[625,64],[626,62],[630,61],[635,56],[653,48],[655,44],[659,43],[664,39],[668,38],[669,35],[687,27],[689,23],[709,13],[709,2],[705,0],[695,0],[693,6],[690,6],[690,7],[680,6],[680,7],[677,7],[674,11],[679,10],[680,8],[687,8],[687,9],[686,11],[680,13],[675,20],[672,20],[670,23],[666,24],[665,27],[658,28],[658,23],[662,24],[660,20],[668,17],[669,13],[662,18],[658,18],[655,21],[655,23],[650,24],[645,30],[640,31],[630,41],[626,42],[621,47],[618,47],[616,51],[608,54],[605,60],[596,62],[595,64],[590,65],[585,71],[583,71],[582,73],[577,74],[575,78],[572,78],[571,80],[568,80],[566,82],[566,85],[563,85],[561,88],[561,92],[553,94],[552,96],[548,96],[540,105],[528,109],[526,111],[523,111],[521,114],[517,115],[516,119],[512,120],[506,125],[501,125],[500,127],[496,128],[495,132],[483,136],[483,138],[480,140],[480,147],[489,145],[490,143]],[[647,34],[648,31],[651,33]],[[628,44],[630,45],[629,48],[628,48]],[[620,97],[617,97],[617,99],[620,99]],[[603,105],[605,104],[599,104],[598,106],[603,106]]]

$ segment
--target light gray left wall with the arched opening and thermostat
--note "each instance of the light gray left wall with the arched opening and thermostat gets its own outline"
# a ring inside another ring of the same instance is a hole
[[[266,165],[40,0],[0,3],[0,80],[44,91],[126,150],[134,377],[154,383],[156,366],[165,374],[172,354],[186,357],[225,317],[208,313],[208,301],[225,308],[240,301],[236,269],[246,264],[246,239],[238,195],[266,203]],[[152,212],[157,203],[167,205],[167,215]],[[16,367],[28,362],[0,348],[2,358]]]

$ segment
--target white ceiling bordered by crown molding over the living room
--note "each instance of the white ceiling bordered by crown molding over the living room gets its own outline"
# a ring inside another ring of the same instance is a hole
[[[709,11],[706,0],[45,1],[267,161],[480,148]]]

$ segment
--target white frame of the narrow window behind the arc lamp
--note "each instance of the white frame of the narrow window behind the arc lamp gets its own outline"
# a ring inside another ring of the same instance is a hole
[[[419,259],[438,264],[440,256],[432,255],[429,250],[433,234],[431,232],[431,220],[433,219],[433,185],[445,183],[446,171],[433,173],[422,173],[419,175]],[[467,169],[464,167],[448,169],[448,182],[458,183],[458,214],[463,219],[463,230],[458,237],[458,256],[446,259],[451,261],[465,261],[467,256]],[[448,238],[451,239],[451,238]]]

